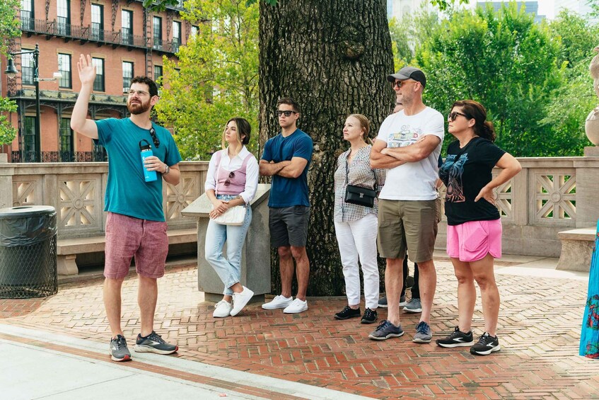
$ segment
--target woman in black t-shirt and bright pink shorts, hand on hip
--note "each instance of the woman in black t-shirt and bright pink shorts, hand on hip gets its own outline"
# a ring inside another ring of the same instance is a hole
[[[487,110],[476,101],[453,103],[448,116],[451,135],[457,140],[447,149],[439,177],[447,187],[447,253],[458,278],[458,326],[437,345],[472,346],[470,353],[487,355],[501,349],[495,336],[499,315],[499,290],[494,258],[501,257],[501,219],[493,189],[521,170],[518,160],[493,144],[495,132]],[[501,169],[493,178],[492,170]],[[484,330],[475,344],[470,330],[476,303],[477,281],[482,296]]]

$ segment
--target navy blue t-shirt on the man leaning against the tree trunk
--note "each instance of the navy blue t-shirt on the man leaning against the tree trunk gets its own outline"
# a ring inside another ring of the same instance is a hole
[[[268,162],[291,161],[293,157],[308,160],[306,168],[297,178],[284,178],[274,175],[268,199],[269,207],[291,207],[293,205],[310,205],[308,200],[308,167],[314,146],[312,138],[306,132],[296,130],[288,137],[279,134],[268,139],[264,144],[262,159]]]

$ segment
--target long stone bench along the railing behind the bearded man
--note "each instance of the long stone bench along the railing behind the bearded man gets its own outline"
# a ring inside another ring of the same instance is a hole
[[[169,246],[193,243],[197,241],[196,229],[173,229],[167,231]],[[57,241],[57,269],[59,275],[77,275],[77,254],[98,253],[104,251],[106,237],[93,236],[78,239],[59,239]]]

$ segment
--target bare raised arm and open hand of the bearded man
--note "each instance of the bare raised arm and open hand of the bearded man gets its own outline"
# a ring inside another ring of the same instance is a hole
[[[87,58],[84,55],[79,56],[77,71],[81,80],[81,91],[79,91],[71,115],[71,129],[92,139],[98,139],[98,127],[95,125],[95,121],[87,119],[89,96],[95,79],[95,67],[91,63],[89,55]]]

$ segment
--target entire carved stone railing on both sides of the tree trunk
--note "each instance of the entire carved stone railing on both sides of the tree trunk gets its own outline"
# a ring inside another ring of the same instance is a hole
[[[599,219],[599,154],[518,160],[521,173],[495,190],[504,253],[558,257],[558,232],[594,227]],[[169,229],[195,227],[181,210],[204,193],[208,163],[184,161],[180,168],[181,182],[164,185]],[[103,234],[106,179],[107,163],[0,162],[0,207],[52,205],[59,212],[60,238]],[[446,246],[444,217],[436,245]]]

